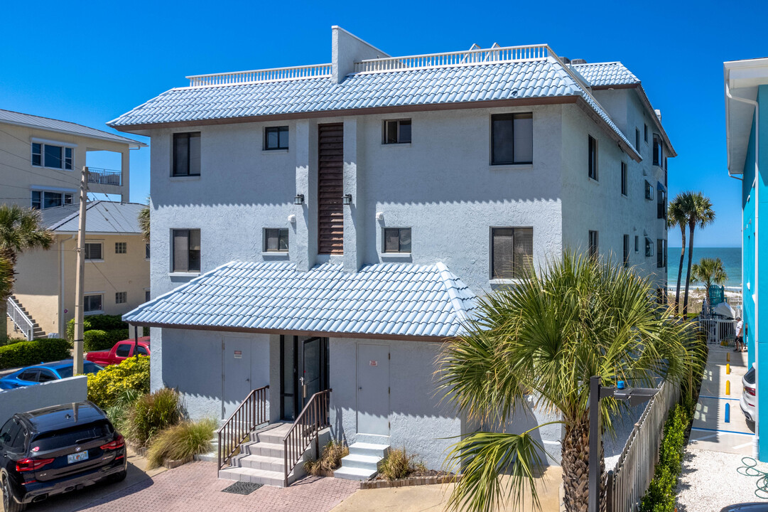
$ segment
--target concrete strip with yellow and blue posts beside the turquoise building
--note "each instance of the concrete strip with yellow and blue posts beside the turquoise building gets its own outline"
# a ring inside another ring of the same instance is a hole
[[[727,357],[730,358],[730,374],[726,373]],[[710,345],[688,449],[752,454],[755,426],[747,423],[739,407],[743,390],[741,378],[746,371],[746,352]],[[730,394],[726,394],[728,381]],[[729,422],[725,421],[726,405],[730,406]]]

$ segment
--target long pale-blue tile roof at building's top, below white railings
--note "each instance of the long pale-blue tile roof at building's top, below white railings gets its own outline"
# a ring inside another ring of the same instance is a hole
[[[110,121],[113,127],[286,115],[359,108],[581,96],[630,151],[607,112],[552,57],[439,68],[353,73],[332,78],[174,88]],[[640,155],[635,151],[637,158]]]

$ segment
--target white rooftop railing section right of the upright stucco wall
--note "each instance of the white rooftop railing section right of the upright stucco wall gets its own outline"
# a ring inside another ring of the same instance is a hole
[[[551,50],[548,45],[525,45],[466,50],[465,52],[409,55],[407,57],[370,58],[355,62],[355,71],[366,73],[414,68],[440,68],[487,62],[539,61],[547,58],[550,53]]]

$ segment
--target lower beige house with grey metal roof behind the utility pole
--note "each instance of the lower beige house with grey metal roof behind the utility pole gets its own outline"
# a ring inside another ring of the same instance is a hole
[[[144,204],[89,201],[85,237],[85,314],[124,314],[150,298],[149,246],[138,214]],[[64,337],[74,318],[79,212],[77,204],[41,211],[55,234],[48,251],[18,258],[14,295],[8,301],[8,335]],[[25,319],[26,318],[26,319]],[[51,334],[52,335],[52,334]]]

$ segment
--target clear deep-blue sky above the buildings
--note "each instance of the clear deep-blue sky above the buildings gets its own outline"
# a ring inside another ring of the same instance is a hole
[[[670,197],[709,195],[700,247],[740,245],[740,182],[728,178],[723,61],[768,56],[753,20],[768,2],[8,2],[0,108],[95,128],[185,75],[330,62],[331,25],[390,55],[547,43],[621,61],[663,115],[678,157]],[[12,21],[13,20],[13,21]],[[141,138],[141,140],[145,140]],[[109,159],[89,165],[114,167]],[[149,194],[149,150],[131,155],[131,198]],[[670,231],[670,247],[679,246]]]

